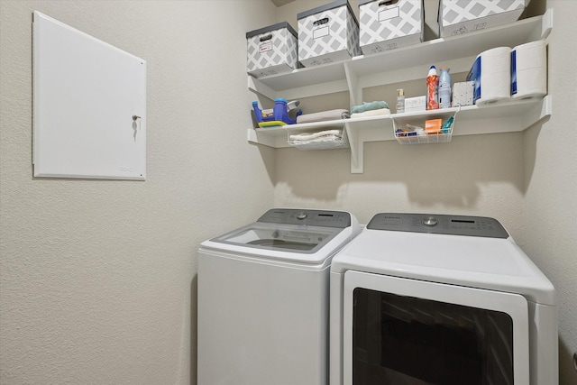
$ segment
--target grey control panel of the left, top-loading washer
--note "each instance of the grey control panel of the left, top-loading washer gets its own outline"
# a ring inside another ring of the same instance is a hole
[[[351,225],[351,215],[343,211],[273,208],[264,213],[258,222],[345,228]]]

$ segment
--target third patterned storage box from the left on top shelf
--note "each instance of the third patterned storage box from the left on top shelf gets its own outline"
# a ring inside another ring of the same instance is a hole
[[[359,20],[365,55],[423,41],[423,0],[359,0]]]

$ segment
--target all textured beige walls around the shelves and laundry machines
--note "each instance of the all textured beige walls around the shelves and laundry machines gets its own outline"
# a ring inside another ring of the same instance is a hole
[[[559,290],[561,383],[575,383],[577,3],[547,2],[549,122],[369,143],[363,174],[348,151],[246,143],[244,33],[325,3],[0,2],[1,383],[194,382],[197,245],[273,205],[497,217]],[[32,179],[32,10],[147,60],[148,180]]]

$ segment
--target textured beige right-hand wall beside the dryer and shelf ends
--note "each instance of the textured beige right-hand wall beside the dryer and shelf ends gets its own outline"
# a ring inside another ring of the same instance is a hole
[[[559,302],[560,384],[577,383],[577,2],[553,0],[549,40],[549,93],[553,115],[525,134],[524,249],[553,281]]]

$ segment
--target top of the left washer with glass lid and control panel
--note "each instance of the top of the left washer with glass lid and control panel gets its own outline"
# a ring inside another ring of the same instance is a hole
[[[350,213],[276,208],[256,222],[202,245],[267,258],[318,263],[359,232],[360,227]]]

